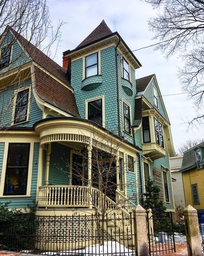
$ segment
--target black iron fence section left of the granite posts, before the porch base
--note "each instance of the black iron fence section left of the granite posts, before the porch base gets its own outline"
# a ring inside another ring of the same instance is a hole
[[[133,216],[73,214],[0,223],[0,249],[40,255],[133,256]]]

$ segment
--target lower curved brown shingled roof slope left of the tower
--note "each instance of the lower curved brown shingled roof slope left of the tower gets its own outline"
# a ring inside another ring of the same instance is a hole
[[[70,115],[79,116],[74,93],[71,90],[37,67],[34,67],[34,74],[36,92],[41,99]]]

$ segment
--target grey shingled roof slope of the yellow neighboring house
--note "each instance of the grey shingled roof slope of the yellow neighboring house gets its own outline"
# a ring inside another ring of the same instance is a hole
[[[196,157],[195,157],[195,150],[197,148],[204,148],[204,142],[196,145],[195,147],[190,148],[189,150],[186,150],[183,153],[182,166],[180,169],[181,172],[192,170],[197,167]]]

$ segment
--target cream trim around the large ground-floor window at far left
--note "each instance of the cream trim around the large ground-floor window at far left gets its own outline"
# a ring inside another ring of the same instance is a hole
[[[28,163],[28,180],[27,180],[27,190],[26,195],[3,195],[4,190],[4,183],[6,177],[6,164],[8,158],[8,150],[9,150],[9,143],[30,143],[30,154],[29,154],[29,163]],[[31,196],[31,179],[32,179],[32,169],[33,169],[33,153],[34,153],[34,142],[29,141],[26,138],[19,138],[19,141],[9,141],[5,142],[4,152],[3,152],[3,164],[2,164],[2,173],[1,173],[1,180],[0,180],[0,197],[2,198],[12,198],[12,197],[29,197]]]

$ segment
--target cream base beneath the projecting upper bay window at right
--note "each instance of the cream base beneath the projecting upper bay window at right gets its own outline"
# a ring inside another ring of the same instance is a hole
[[[165,149],[155,142],[142,144],[143,154],[148,154],[149,157],[158,159],[166,156]]]

